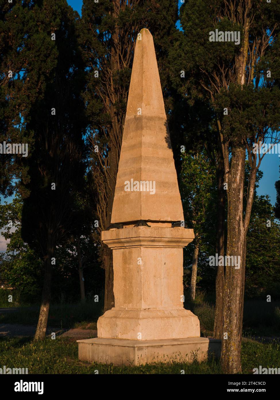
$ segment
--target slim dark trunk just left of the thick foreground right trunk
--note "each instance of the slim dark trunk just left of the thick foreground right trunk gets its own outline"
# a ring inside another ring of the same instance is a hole
[[[218,157],[216,168],[218,184],[217,224],[216,224],[216,254],[224,256],[224,216],[225,216],[225,190],[224,190],[224,163],[222,154]],[[216,266],[216,307],[214,318],[214,338],[222,338],[222,310],[224,290],[224,266]]]

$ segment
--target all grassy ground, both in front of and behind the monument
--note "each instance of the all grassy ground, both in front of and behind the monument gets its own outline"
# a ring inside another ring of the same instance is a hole
[[[19,304],[18,304],[19,305]],[[4,306],[4,305],[2,305]],[[197,294],[194,303],[185,303],[198,316],[201,335],[211,336],[214,324],[212,298]],[[39,306],[20,307],[19,310],[0,314],[0,323],[36,325]],[[102,314],[102,305],[95,302],[52,304],[48,324],[59,328],[96,329],[96,321]],[[259,343],[250,336],[280,336],[280,302],[251,300],[244,304],[242,341],[242,371],[252,374],[258,366],[278,368],[280,342]],[[173,362],[155,363],[145,366],[122,366],[93,364],[78,360],[78,345],[73,338],[57,336],[44,342],[32,342],[32,338],[0,338],[0,366],[6,368],[28,368],[29,374],[221,374],[217,359],[201,363],[193,360],[186,364]]]

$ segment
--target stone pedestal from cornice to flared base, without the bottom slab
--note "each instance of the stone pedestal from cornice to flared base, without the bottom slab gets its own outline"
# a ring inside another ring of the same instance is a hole
[[[97,321],[99,338],[154,340],[200,336],[183,308],[183,247],[193,230],[138,226],[102,232],[113,250],[115,307]]]

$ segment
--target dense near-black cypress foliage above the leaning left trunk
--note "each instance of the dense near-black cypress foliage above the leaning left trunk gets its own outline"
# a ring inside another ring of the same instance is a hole
[[[22,182],[28,193],[24,196],[22,237],[46,257],[48,248],[67,241],[74,231],[75,196],[85,184],[84,64],[76,39],[77,13],[66,0],[43,1],[35,12],[38,30],[48,36],[56,58],[45,56],[51,72],[44,96],[30,109],[26,125],[34,132],[34,146],[26,161],[30,180]]]

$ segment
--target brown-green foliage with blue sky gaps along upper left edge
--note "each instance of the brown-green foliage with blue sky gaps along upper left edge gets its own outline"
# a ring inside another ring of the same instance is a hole
[[[57,56],[48,34],[51,26],[42,29],[40,13],[31,0],[0,1],[0,142],[28,143],[28,154],[34,143],[34,132],[26,127],[30,110],[42,98]],[[1,194],[12,193],[12,179],[16,185],[28,182],[24,160],[20,154],[0,155]]]

